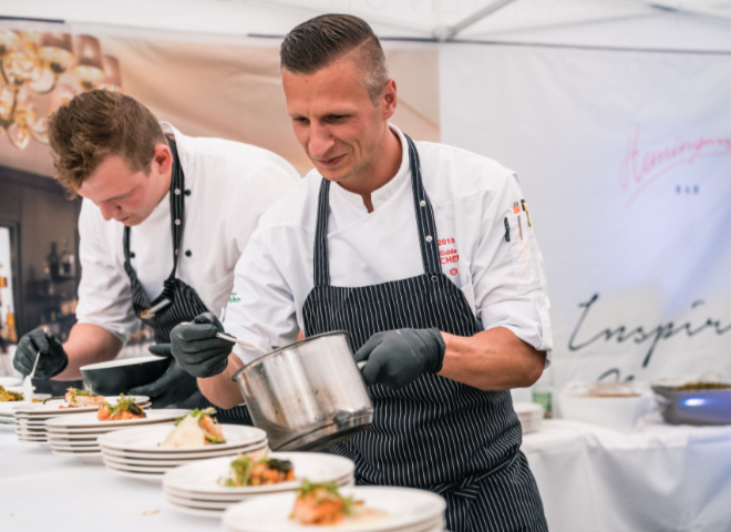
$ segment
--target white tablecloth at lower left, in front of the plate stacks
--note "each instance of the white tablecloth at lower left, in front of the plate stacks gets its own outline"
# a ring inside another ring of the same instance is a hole
[[[220,520],[165,507],[159,482],[53,454],[0,427],[0,531],[220,531]]]

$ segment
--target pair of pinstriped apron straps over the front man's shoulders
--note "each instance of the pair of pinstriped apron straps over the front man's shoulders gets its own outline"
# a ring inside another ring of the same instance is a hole
[[[419,245],[421,262],[426,274],[442,272],[439,259],[439,239],[434,209],[429,201],[421,178],[419,152],[409,135],[405,135],[409,147],[409,167],[411,170],[411,188],[414,197],[416,226],[419,228]],[[315,231],[315,286],[330,285],[330,266],[328,264],[328,214],[330,207],[330,181],[322,178],[317,205],[317,228]],[[176,257],[177,258],[177,257]]]

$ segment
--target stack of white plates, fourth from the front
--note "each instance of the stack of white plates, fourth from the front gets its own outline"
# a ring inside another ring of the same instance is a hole
[[[55,454],[76,457],[99,456],[101,450],[97,438],[107,432],[114,432],[132,427],[146,424],[172,426],[177,418],[188,410],[162,409],[145,410],[146,418],[120,419],[100,421],[96,412],[85,412],[75,416],[59,416],[45,422],[48,443]]]

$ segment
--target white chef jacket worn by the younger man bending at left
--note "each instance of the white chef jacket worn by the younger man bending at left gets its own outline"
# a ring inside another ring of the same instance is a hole
[[[167,123],[185,176],[184,231],[177,277],[218,315],[231,293],[234,268],[261,213],[301,181],[282,157],[223,139],[192,137]],[[123,342],[140,327],[124,270],[124,225],[105,221],[84,200],[79,216],[82,267],[76,320],[103,327]],[[131,259],[153,300],[173,269],[169,193],[140,225],[132,227]]]

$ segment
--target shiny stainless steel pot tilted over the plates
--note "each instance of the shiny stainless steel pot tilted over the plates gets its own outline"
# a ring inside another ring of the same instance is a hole
[[[373,406],[344,331],[312,336],[244,366],[234,378],[275,451],[316,451],[370,427]]]

